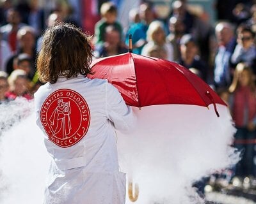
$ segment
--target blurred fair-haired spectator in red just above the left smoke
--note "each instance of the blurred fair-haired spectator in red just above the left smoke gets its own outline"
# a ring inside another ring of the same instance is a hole
[[[10,84],[10,91],[6,92],[8,99],[13,100],[18,96],[28,100],[32,99],[32,96],[29,94],[30,85],[26,71],[15,69],[10,77],[8,77],[8,82]]]

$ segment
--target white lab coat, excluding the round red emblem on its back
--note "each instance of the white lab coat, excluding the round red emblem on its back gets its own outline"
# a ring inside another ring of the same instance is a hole
[[[115,129],[132,129],[135,120],[131,107],[125,105],[117,89],[106,80],[91,80],[82,75],[59,77],[56,84],[42,85],[35,93],[36,123],[42,131],[42,104],[58,89],[81,94],[90,109],[91,121],[86,136],[71,147],[59,147],[44,134],[46,149],[52,157],[44,203],[125,203],[126,179],[118,169]]]

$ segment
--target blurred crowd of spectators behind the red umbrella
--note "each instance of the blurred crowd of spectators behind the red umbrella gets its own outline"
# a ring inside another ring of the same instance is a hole
[[[173,1],[171,8],[163,20],[157,18],[152,4],[141,1],[139,8],[129,12],[129,27],[123,27],[115,4],[103,3],[92,38],[94,56],[127,52],[132,34],[135,54],[175,61],[193,71],[230,108],[237,128],[234,145],[243,152],[234,174],[255,177],[256,3],[237,3],[232,18],[218,19],[214,25],[184,0]],[[58,22],[80,24],[60,5],[45,17],[36,1],[19,6],[6,0],[0,11],[0,103],[18,96],[30,100],[42,85],[36,75],[42,32]]]

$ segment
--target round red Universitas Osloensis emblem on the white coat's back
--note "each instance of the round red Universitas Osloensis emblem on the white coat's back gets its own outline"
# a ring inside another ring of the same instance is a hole
[[[54,91],[45,99],[40,113],[49,140],[60,147],[75,145],[90,126],[90,110],[86,101],[70,89]]]

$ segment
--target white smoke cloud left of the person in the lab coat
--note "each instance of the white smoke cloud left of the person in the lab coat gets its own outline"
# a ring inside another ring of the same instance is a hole
[[[49,157],[33,101],[16,99],[0,112],[0,203],[42,203]]]

